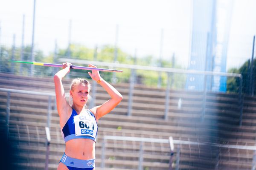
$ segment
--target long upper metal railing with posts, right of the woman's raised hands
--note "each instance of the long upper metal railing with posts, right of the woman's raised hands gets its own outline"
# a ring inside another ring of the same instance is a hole
[[[131,71],[130,74],[130,84],[129,84],[129,98],[128,98],[128,115],[131,116],[132,112],[132,102],[133,102],[133,91],[134,91],[134,85],[135,85],[135,79],[136,74],[135,72],[137,70],[143,70],[143,71],[157,71],[160,73],[166,73],[167,74],[167,82],[166,82],[166,97],[165,97],[165,113],[164,113],[164,119],[168,119],[168,112],[169,112],[169,94],[171,90],[171,82],[173,82],[172,79],[174,79],[174,74],[179,75],[187,75],[187,74],[196,74],[196,75],[202,75],[204,76],[204,82],[203,82],[203,105],[202,105],[202,115],[201,120],[204,122],[204,115],[205,115],[205,102],[207,97],[207,92],[211,90],[207,90],[207,77],[213,77],[213,76],[222,76],[222,77],[235,77],[239,81],[239,87],[237,93],[239,94],[239,112],[240,112],[240,120],[239,125],[242,125],[242,114],[243,114],[243,97],[242,97],[242,83],[243,83],[243,77],[241,74],[235,74],[235,73],[222,73],[222,72],[212,72],[212,71],[195,71],[195,70],[184,70],[184,69],[177,69],[177,68],[161,68],[161,67],[151,67],[151,66],[143,66],[143,65],[128,65],[128,64],[120,64],[120,63],[110,63],[110,62],[97,62],[97,61],[88,61],[88,60],[79,60],[79,59],[59,59],[60,62],[70,62],[73,64],[94,64],[98,66],[106,66],[108,68],[120,68],[120,69],[129,69]],[[184,90],[184,89],[183,89]]]

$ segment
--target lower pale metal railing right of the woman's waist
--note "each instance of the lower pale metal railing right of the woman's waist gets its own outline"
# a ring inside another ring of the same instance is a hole
[[[221,153],[218,148],[227,148],[227,149],[241,149],[241,150],[254,150],[253,158],[251,161],[251,170],[256,169],[256,146],[244,146],[244,145],[235,145],[235,144],[216,144],[216,143],[209,143],[209,142],[191,142],[191,141],[184,141],[184,140],[174,140],[172,136],[169,139],[154,139],[154,138],[141,138],[141,137],[128,137],[128,136],[104,136],[102,142],[102,160],[101,160],[101,168],[104,170],[105,168],[105,152],[106,152],[106,144],[108,144],[108,140],[116,141],[132,141],[132,142],[140,142],[140,150],[139,150],[139,158],[138,158],[138,170],[143,170],[143,142],[150,142],[150,143],[169,143],[170,145],[170,161],[169,161],[169,170],[179,170],[180,169],[180,153],[181,153],[181,145],[195,145],[198,146],[198,152],[200,153],[201,146],[208,146],[217,148],[217,153],[215,156],[215,170],[219,169],[219,154]],[[177,146],[177,148],[174,147]],[[209,153],[212,150],[208,150]],[[229,151],[230,152],[230,151]],[[124,153],[125,154],[125,153]],[[175,159],[175,165],[173,165],[173,159]]]

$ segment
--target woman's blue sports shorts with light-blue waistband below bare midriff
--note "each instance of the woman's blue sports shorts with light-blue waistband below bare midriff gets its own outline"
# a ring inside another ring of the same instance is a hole
[[[71,158],[64,153],[60,162],[65,164],[69,170],[93,170],[95,167],[94,161],[95,159],[82,160]]]

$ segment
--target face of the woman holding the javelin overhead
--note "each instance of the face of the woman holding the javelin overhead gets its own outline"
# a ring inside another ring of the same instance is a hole
[[[76,85],[74,91],[70,91],[73,97],[73,103],[79,106],[84,106],[89,97],[89,87],[84,83]]]

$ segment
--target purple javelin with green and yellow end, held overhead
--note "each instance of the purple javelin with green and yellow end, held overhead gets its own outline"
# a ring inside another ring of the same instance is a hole
[[[48,67],[62,67],[62,64],[52,64],[52,63],[44,63],[44,62],[27,62],[27,61],[12,61],[10,62],[19,62],[19,63],[26,63],[32,65],[42,65]],[[122,70],[113,70],[108,68],[93,68],[93,67],[84,67],[84,66],[77,66],[77,65],[70,65],[70,69],[80,69],[80,70],[96,70],[96,71],[108,71],[108,72],[123,72]]]

